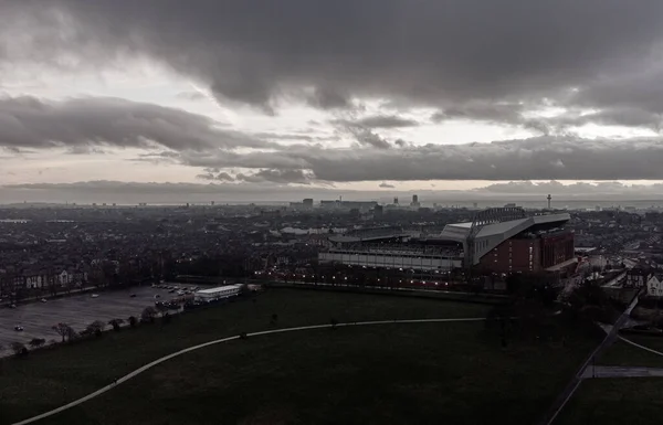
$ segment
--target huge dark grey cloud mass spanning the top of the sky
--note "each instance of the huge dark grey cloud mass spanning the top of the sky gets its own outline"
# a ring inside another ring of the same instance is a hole
[[[25,0],[2,8],[10,23],[2,34],[20,31],[22,57],[148,55],[267,110],[303,88],[324,108],[345,107],[350,96],[449,106],[555,95],[642,65],[663,33],[659,0]],[[15,10],[22,25],[11,25]],[[25,21],[50,35],[46,49],[30,44]]]

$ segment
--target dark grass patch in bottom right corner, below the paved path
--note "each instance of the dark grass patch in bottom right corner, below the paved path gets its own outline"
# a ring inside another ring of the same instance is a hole
[[[661,417],[661,378],[606,378],[583,381],[555,425],[657,425]]]

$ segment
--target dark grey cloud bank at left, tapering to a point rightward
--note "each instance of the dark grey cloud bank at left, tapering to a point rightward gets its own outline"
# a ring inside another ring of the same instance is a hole
[[[86,146],[149,147],[201,150],[270,144],[217,128],[210,118],[180,109],[118,98],[42,102],[34,97],[0,98],[0,146],[9,148]]]

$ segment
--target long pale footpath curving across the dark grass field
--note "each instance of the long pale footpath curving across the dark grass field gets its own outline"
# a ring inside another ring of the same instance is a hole
[[[336,325],[337,328],[340,327],[351,327],[351,326],[368,326],[368,325],[393,325],[393,323],[433,323],[433,322],[453,322],[453,321],[482,321],[482,320],[486,320],[484,317],[472,317],[472,318],[460,318],[460,319],[406,319],[406,320],[373,320],[373,321],[357,321],[357,322],[347,322],[347,323],[338,323]],[[301,327],[296,327],[296,328],[283,328],[283,329],[273,329],[273,330],[263,330],[260,332],[252,332],[252,333],[246,333],[248,337],[257,337],[261,334],[270,334],[270,333],[283,333],[283,332],[296,332],[296,331],[301,331],[301,330],[309,330],[309,329],[323,329],[323,328],[332,328],[333,325],[313,325],[313,326],[301,326]],[[171,354],[165,355],[160,359],[157,359],[150,363],[147,363],[144,366],[140,366],[138,369],[136,369],[135,371],[117,379],[117,381],[115,381],[114,383],[106,385],[97,391],[95,391],[94,393],[90,393],[78,400],[74,400],[71,403],[67,403],[63,406],[60,406],[57,408],[54,408],[52,411],[42,413],[40,415],[36,416],[32,416],[28,419],[23,419],[20,422],[14,423],[13,425],[24,425],[24,424],[31,424],[33,422],[43,419],[45,417],[49,416],[53,416],[60,412],[64,412],[66,410],[70,410],[72,407],[75,407],[80,404],[85,403],[88,400],[95,399],[110,390],[113,390],[115,386],[117,386],[118,384],[126,382],[137,375],[139,375],[140,373],[156,366],[157,364],[164,363],[172,358],[182,355],[185,353],[188,353],[190,351],[194,351],[194,350],[200,350],[202,348],[209,347],[209,346],[214,346],[218,343],[224,343],[228,341],[232,341],[235,339],[240,339],[240,336],[234,336],[234,337],[228,337],[228,338],[222,338],[222,339],[217,339],[210,342],[204,342],[198,346],[193,346],[193,347],[189,347],[186,348],[183,350],[173,352]]]

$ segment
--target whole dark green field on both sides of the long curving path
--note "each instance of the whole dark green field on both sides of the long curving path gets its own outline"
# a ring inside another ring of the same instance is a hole
[[[60,406],[164,354],[211,339],[301,325],[483,317],[486,307],[376,295],[272,290],[167,326],[10,359],[0,424]],[[271,325],[272,314],[278,315]],[[43,424],[532,423],[596,339],[512,344],[483,322],[387,325],[254,337],[160,364]]]

